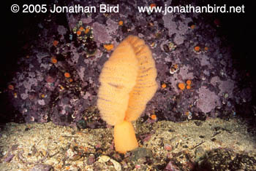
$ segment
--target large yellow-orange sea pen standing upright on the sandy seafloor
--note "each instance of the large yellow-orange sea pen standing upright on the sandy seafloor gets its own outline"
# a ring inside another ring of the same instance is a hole
[[[133,121],[157,91],[157,69],[142,39],[128,36],[116,47],[99,76],[97,107],[105,122],[114,125],[116,151],[138,147]]]

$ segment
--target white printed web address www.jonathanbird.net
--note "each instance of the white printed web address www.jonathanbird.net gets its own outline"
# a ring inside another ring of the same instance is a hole
[[[167,6],[165,4],[165,7],[138,7],[139,12],[156,12],[156,13],[163,13],[163,15],[166,15],[167,13],[190,13],[190,12],[196,12],[196,13],[244,13],[244,4],[241,6],[229,6],[227,7],[226,4],[222,6],[217,6],[214,4],[213,6],[207,5],[202,7],[194,7],[191,4],[188,4],[186,6]]]

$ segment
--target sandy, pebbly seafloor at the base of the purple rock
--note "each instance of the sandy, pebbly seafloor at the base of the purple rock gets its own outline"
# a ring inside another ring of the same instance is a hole
[[[256,130],[237,119],[135,123],[140,147],[118,154],[113,129],[8,123],[0,170],[256,170]]]

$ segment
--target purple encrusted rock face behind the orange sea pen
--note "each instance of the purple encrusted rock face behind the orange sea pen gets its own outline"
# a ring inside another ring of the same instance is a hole
[[[173,3],[159,1],[157,6]],[[15,118],[25,122],[105,127],[96,108],[98,78],[113,50],[104,45],[116,47],[130,34],[148,44],[157,67],[159,90],[142,114],[144,121],[151,122],[151,114],[175,122],[233,116],[251,105],[252,74],[235,68],[239,64],[225,35],[219,34],[219,25],[213,23],[214,15],[138,13],[131,6],[120,3],[118,13],[48,15],[49,20],[35,21],[33,31],[38,33],[23,44],[18,69],[6,86],[15,88],[4,90],[6,111],[14,111]],[[57,63],[50,60],[53,56]],[[187,80],[192,82],[189,88]],[[179,83],[186,88],[180,90]]]

